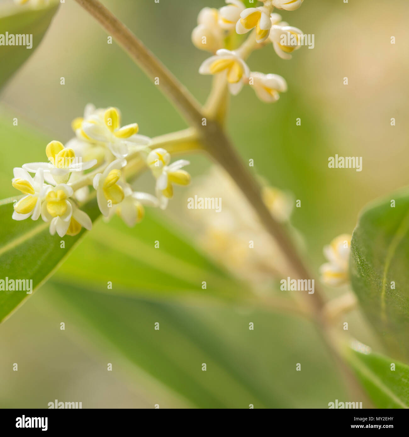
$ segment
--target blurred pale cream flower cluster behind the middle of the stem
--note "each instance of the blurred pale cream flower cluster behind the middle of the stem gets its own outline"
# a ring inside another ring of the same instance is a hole
[[[264,181],[262,185],[262,197],[271,214],[290,227],[292,195]],[[189,222],[201,248],[234,276],[256,285],[255,289],[271,289],[272,281],[282,277],[288,266],[276,241],[259,222],[234,180],[214,166],[202,179],[196,180],[187,195],[193,201],[195,198],[215,199],[219,207],[218,210],[188,209]],[[295,233],[295,229],[292,230]]]

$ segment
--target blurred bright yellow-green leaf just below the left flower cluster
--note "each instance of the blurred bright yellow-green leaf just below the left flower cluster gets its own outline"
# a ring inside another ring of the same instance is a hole
[[[90,269],[88,260],[98,265],[98,270]],[[201,254],[163,217],[163,212],[149,210],[131,229],[116,216],[110,223],[98,223],[61,267],[57,278],[105,291],[110,281],[114,290],[132,295],[250,296],[245,285]],[[202,282],[206,282],[206,289]]]

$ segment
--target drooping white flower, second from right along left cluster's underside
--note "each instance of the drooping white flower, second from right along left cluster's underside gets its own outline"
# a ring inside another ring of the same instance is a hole
[[[130,228],[143,219],[145,215],[143,205],[159,206],[159,201],[152,194],[133,191],[129,184],[121,181],[118,181],[118,184],[121,185],[125,197],[120,204],[111,208],[109,216],[116,213]]]

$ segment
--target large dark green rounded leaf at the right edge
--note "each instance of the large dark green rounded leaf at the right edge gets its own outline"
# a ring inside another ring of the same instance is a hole
[[[395,207],[391,207],[391,200]],[[399,191],[360,215],[351,242],[353,290],[389,353],[409,357],[409,193]]]

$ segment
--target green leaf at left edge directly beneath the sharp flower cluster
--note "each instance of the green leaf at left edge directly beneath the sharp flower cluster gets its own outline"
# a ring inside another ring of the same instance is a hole
[[[81,229],[76,236],[51,236],[49,223],[41,219],[13,220],[11,215],[14,200],[10,198],[0,201],[0,280],[5,281],[4,288],[7,279],[31,280],[34,291],[56,271],[85,229]],[[100,215],[95,199],[81,209],[92,221]],[[65,248],[60,247],[62,240]],[[0,322],[30,295],[31,293],[27,294],[24,290],[0,289]]]

